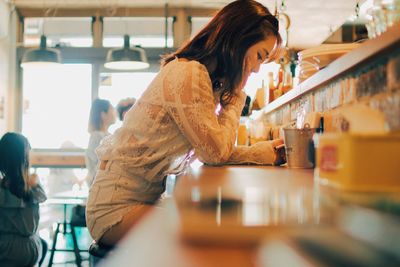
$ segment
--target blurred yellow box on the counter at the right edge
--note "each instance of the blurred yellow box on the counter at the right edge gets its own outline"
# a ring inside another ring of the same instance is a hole
[[[318,138],[315,178],[342,190],[400,191],[400,135],[326,133]]]

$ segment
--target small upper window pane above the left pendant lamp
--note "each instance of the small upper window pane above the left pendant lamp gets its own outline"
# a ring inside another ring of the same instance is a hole
[[[90,47],[93,44],[91,18],[26,18],[24,45],[39,46],[40,35],[47,37],[47,45]]]

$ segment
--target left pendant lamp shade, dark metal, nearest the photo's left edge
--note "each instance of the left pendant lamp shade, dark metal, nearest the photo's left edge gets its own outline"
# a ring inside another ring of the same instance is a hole
[[[26,51],[22,57],[21,67],[33,65],[53,65],[61,63],[61,53],[57,49],[46,47],[46,36],[40,37],[40,47]]]

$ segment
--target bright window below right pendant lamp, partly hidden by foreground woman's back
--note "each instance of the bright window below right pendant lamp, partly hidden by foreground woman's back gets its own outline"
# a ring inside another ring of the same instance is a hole
[[[99,98],[107,99],[115,107],[121,99],[138,99],[157,75],[155,72],[102,73]],[[110,127],[110,132],[122,125],[119,120]]]

